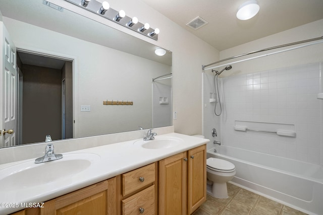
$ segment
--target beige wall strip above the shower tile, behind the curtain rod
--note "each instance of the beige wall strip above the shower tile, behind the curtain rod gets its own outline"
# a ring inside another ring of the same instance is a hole
[[[227,57],[231,57],[238,54],[247,53],[250,51],[255,51],[263,48],[321,37],[323,35],[322,26],[323,26],[323,19],[312,23],[308,23],[293,29],[289,29],[287,31],[283,31],[271,36],[263,37],[261,39],[254,40],[252,42],[248,42],[227,50],[223,50],[220,52],[220,58],[225,59]],[[240,57],[234,60],[229,60],[224,63],[229,63],[229,62],[241,60],[244,58],[262,55],[265,53],[271,53],[271,52],[275,52],[283,49],[288,49],[288,48],[292,48],[292,47],[296,47],[304,44],[306,43],[294,45],[294,46],[288,46],[288,47],[266,51],[266,52],[259,52],[257,54],[248,55],[246,57]],[[304,48],[295,49],[292,51],[286,51],[286,52],[271,55],[271,56],[261,57],[258,59],[232,64],[233,68],[229,71],[222,73],[221,76],[226,77],[226,76],[233,76],[238,74],[254,73],[256,71],[263,71],[263,70],[270,70],[275,68],[301,65],[306,63],[320,62],[322,60],[323,60],[323,43],[320,43],[312,46],[307,46]]]

